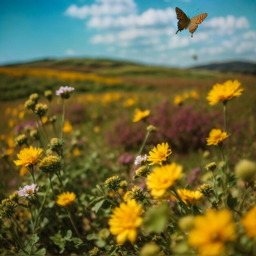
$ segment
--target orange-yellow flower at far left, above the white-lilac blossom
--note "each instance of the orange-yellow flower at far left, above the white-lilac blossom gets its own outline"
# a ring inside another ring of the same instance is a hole
[[[19,160],[14,160],[13,162],[16,165],[21,166],[29,166],[30,164],[36,164],[36,162],[42,156],[43,149],[41,148],[33,148],[30,146],[29,148],[23,148],[20,150],[20,153],[17,154]]]

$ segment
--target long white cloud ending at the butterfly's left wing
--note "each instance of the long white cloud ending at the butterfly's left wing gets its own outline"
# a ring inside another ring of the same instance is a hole
[[[172,8],[153,9],[150,8],[141,14],[130,14],[119,17],[99,17],[94,16],[88,22],[88,27],[97,29],[106,28],[126,28],[126,27],[146,27],[157,25],[171,25],[176,19],[175,11]]]

